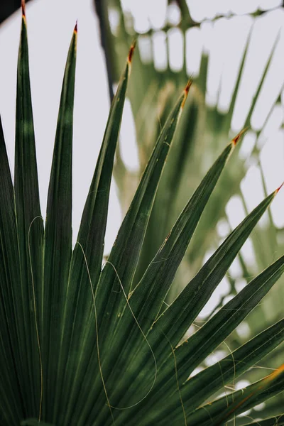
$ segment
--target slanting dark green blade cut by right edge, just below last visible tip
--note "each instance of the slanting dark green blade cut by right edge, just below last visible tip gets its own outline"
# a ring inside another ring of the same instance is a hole
[[[244,320],[246,315],[256,307],[258,302],[268,293],[268,290],[271,289],[283,272],[284,256],[266,268],[266,270],[252,280],[246,288],[241,290],[234,299],[224,305],[224,307],[222,307],[211,320],[206,322],[201,329],[195,332],[195,334],[192,334],[183,344],[178,346],[174,351],[174,359],[173,351],[170,352],[170,356],[164,363],[162,360],[162,365],[159,368],[160,371],[155,383],[155,393],[145,402],[145,409],[153,410],[154,413],[158,412],[154,407],[160,404],[162,398],[166,405],[170,404],[170,397],[177,392],[177,381],[180,387],[186,383],[190,373],[192,373],[200,362],[211,354],[212,351],[228,337],[235,327]],[[170,340],[168,340],[168,344],[169,342]],[[155,354],[156,353],[157,352],[155,352]],[[145,364],[146,361],[144,360],[144,369],[146,368]],[[137,383],[139,383],[139,381],[137,381]],[[134,383],[134,386],[130,386],[129,392],[133,393],[135,391],[135,386],[138,385]],[[129,393],[126,393],[125,398],[129,398]],[[153,417],[152,420],[156,421],[156,418]]]

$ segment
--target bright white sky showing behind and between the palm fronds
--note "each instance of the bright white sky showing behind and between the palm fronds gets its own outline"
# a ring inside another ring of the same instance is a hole
[[[147,31],[151,26],[157,30],[161,28],[167,18],[165,14],[165,0],[124,0],[124,7],[131,10],[136,17],[137,31]],[[216,11],[227,13],[229,9],[237,13],[246,13],[255,10],[259,4],[263,7],[277,6],[278,0],[216,0],[216,1],[189,1],[192,17],[196,20],[205,16],[212,18]],[[216,6],[217,5],[217,6]],[[218,8],[218,9],[217,9]],[[203,16],[202,16],[203,13]],[[80,217],[87,197],[89,183],[92,179],[94,166],[102,142],[104,126],[109,111],[107,92],[107,77],[104,66],[104,57],[99,45],[99,30],[94,13],[92,0],[33,0],[27,4],[28,40],[30,51],[31,89],[33,96],[33,114],[35,121],[35,136],[37,144],[38,171],[40,179],[40,201],[42,212],[45,215],[48,179],[53,154],[55,126],[58,115],[58,105],[65,67],[67,50],[78,18],[78,49],[77,74],[75,88],[74,111],[74,151],[73,151],[73,243],[75,244]],[[114,17],[115,18],[115,17]],[[172,22],[178,22],[177,9],[173,7],[168,16]],[[283,13],[271,11],[264,19],[259,19],[253,34],[251,54],[246,63],[244,81],[239,92],[239,107],[233,118],[233,127],[239,131],[245,118],[244,104],[249,108],[251,97],[256,92],[261,72],[273,46],[276,34],[283,27]],[[18,11],[9,21],[0,27],[0,112],[2,116],[6,144],[9,151],[9,160],[13,170],[14,158],[14,128],[15,128],[15,101],[16,101],[16,61],[18,55],[18,40],[21,28],[21,13]],[[238,53],[244,48],[247,34],[251,28],[251,18],[239,16],[233,21],[220,20],[214,28],[203,26],[202,31],[192,30],[188,40],[192,40],[189,48],[187,69],[189,74],[196,73],[199,62],[198,46],[204,45],[210,52],[208,75],[208,102],[214,104],[217,100],[217,87],[221,79],[221,96],[219,107],[226,108],[228,93],[232,90],[233,77],[237,72]],[[225,36],[224,36],[225,35]],[[159,39],[160,37],[160,39]],[[163,67],[164,35],[158,33],[154,41],[154,61],[157,67]],[[157,41],[158,40],[158,41]],[[193,43],[194,42],[194,43]],[[179,70],[182,66],[182,50],[180,48],[180,34],[173,31],[170,35],[170,64]],[[190,45],[190,43],[189,43]],[[269,102],[275,101],[284,76],[284,31],[280,33],[277,54],[273,58],[271,72],[263,93],[256,105],[252,117],[254,129],[262,126],[269,109]],[[135,60],[135,58],[134,58]],[[261,65],[262,63],[262,65]],[[225,78],[225,77],[226,78]],[[282,97],[283,98],[283,97]],[[270,99],[270,100],[269,100]],[[283,99],[282,99],[283,102]],[[126,111],[129,111],[126,104]],[[136,167],[133,140],[128,123],[131,113],[124,114],[122,126],[123,155],[131,168]],[[284,177],[284,143],[283,143],[283,106],[276,107],[271,120],[263,132],[263,141],[266,145],[261,154],[261,164],[265,171],[268,192],[275,190]],[[253,148],[254,133],[249,133],[242,147],[242,155],[249,154]],[[269,137],[268,137],[269,136]],[[129,155],[129,152],[131,153]],[[242,182],[241,189],[248,203],[249,211],[263,198],[259,170],[256,165],[249,169],[249,173]],[[228,214],[231,224],[238,224],[242,219],[238,200],[232,199],[228,204]],[[284,225],[284,190],[279,193],[273,202],[273,217],[278,226]],[[111,190],[109,207],[109,222],[106,236],[106,253],[111,249],[116,236],[121,213],[117,201],[114,185]],[[249,249],[250,251],[250,249]]]

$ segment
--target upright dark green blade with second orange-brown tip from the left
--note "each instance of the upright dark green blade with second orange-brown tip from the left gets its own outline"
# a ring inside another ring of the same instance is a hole
[[[77,25],[67,55],[48,188],[45,221],[41,346],[46,413],[55,405],[53,383],[58,376],[64,300],[72,253],[72,131]],[[45,413],[43,413],[45,415]]]

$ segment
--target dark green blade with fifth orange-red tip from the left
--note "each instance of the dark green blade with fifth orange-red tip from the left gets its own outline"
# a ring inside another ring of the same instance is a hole
[[[129,299],[131,309],[134,315],[136,315],[138,324],[146,334],[160,311],[160,307],[168,293],[168,288],[185,254],[185,250],[190,243],[202,211],[217,184],[227,160],[232,151],[234,151],[241,133],[226,146],[214,165],[212,165],[212,168],[209,169],[207,175],[183,209],[164,244],[160,247],[155,258],[153,258],[153,261],[148,266],[138,287],[133,290],[133,294]],[[133,322],[132,312],[128,307],[124,311],[117,332],[117,339],[120,338],[122,342],[125,342],[126,337],[128,337],[127,344],[124,344],[124,347],[121,348],[116,362],[124,359],[126,354],[132,360],[131,362],[133,362],[134,359],[137,359],[138,353],[141,352],[141,346],[145,344],[145,342],[141,341],[141,330]],[[163,345],[164,342],[160,342],[160,344]],[[163,349],[168,350],[168,342],[165,342]],[[116,367],[116,374],[121,374],[122,368],[122,365],[119,368]],[[137,374],[140,368],[140,364],[137,363]],[[131,383],[133,383],[132,376],[124,378],[126,389],[131,386]],[[117,393],[123,395],[124,392],[120,389]]]

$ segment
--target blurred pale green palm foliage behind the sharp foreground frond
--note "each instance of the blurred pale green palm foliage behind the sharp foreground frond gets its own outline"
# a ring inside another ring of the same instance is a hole
[[[137,33],[134,29],[135,16],[132,16],[129,9],[125,9],[119,0],[110,0],[107,4],[102,4],[100,1],[96,3],[97,12],[100,18],[102,44],[105,48],[109,73],[110,96],[112,96],[112,83],[117,80],[117,72],[121,69],[121,59],[124,58],[126,54],[127,46],[133,37],[138,39],[137,62],[133,67],[133,79],[130,82],[129,99],[136,124],[136,141],[138,144],[140,172],[129,170],[124,164],[119,151],[114,165],[116,182],[119,186],[119,197],[122,209],[125,212],[129,206],[133,190],[135,190],[138,184],[141,170],[143,170],[146,163],[146,158],[148,158],[148,154],[151,151],[160,126],[163,125],[165,116],[167,116],[170,105],[173,102],[175,92],[182,86],[188,77],[186,66],[186,55],[188,55],[186,46],[187,33],[192,28],[202,28],[202,25],[204,25],[206,21],[208,22],[208,20],[205,19],[204,22],[194,21],[190,16],[190,9],[185,0],[176,2],[169,1],[169,8],[172,4],[175,4],[175,6],[178,6],[180,9],[180,21],[175,23],[175,25],[168,21],[163,28],[159,28],[159,31],[163,31],[165,34],[165,45],[169,53],[169,38],[167,35],[170,34],[170,31],[174,27],[180,29],[184,40],[184,60],[181,70],[176,72],[170,64],[170,57],[168,55],[165,70],[157,70],[153,62],[153,39],[158,30],[151,28],[147,33]],[[190,2],[188,2],[188,4],[190,4]],[[282,13],[281,7],[277,10],[278,13]],[[266,14],[268,13],[270,12],[256,9],[256,11],[251,13],[251,17],[254,22],[257,22],[260,18],[266,18]],[[114,16],[116,19],[112,20],[111,18]],[[229,20],[234,20],[234,18],[234,13],[226,17],[226,19]],[[216,25],[220,19],[222,19],[222,16],[215,16],[212,20],[214,25]],[[112,21],[115,21],[115,23]],[[241,31],[241,27],[239,31]],[[168,230],[178,217],[178,212],[185,205],[188,195],[192,193],[197,182],[202,178],[202,175],[204,175],[204,170],[206,170],[208,163],[214,158],[214,153],[222,149],[228,135],[232,134],[231,119],[234,114],[234,107],[241,85],[241,78],[244,74],[246,60],[251,53],[249,51],[251,33],[252,31],[250,31],[246,39],[246,45],[241,54],[239,70],[234,83],[234,91],[231,94],[229,110],[226,112],[220,111],[217,104],[214,107],[207,104],[206,92],[210,54],[208,50],[203,47],[200,72],[194,79],[194,85],[190,92],[190,99],[187,102],[185,114],[182,116],[178,133],[175,135],[175,143],[173,144],[168,163],[165,166],[153,212],[151,213],[146,241],[143,244],[142,261],[139,263],[138,273],[136,275],[137,280],[141,277],[149,261],[153,258],[155,251],[158,249],[158,246],[168,234]],[[148,46],[149,50],[152,50],[152,54],[149,57],[152,59],[148,59],[147,61],[143,60],[143,45],[145,44]],[[139,47],[141,47],[141,49],[139,49]],[[263,89],[263,85],[266,82],[266,77],[271,68],[271,61],[274,58],[273,55],[275,55],[277,47],[278,38],[275,39],[275,44],[266,62],[266,67],[263,70],[263,75],[253,97],[253,102],[246,115],[244,127],[251,128],[251,117],[253,116],[253,111],[259,94],[261,93],[261,89]],[[276,54],[280,55],[279,50]],[[226,75],[224,75],[224,78],[226,78]],[[270,112],[261,129],[253,129],[252,134],[255,138],[255,142],[253,143],[251,151],[247,153],[246,156],[240,153],[239,160],[231,164],[230,167],[224,171],[224,176],[217,186],[214,195],[212,195],[212,199],[209,201],[209,207],[202,217],[200,225],[198,226],[198,232],[191,243],[190,249],[186,253],[185,260],[182,262],[175,276],[173,288],[168,295],[169,302],[178,295],[188,280],[197,273],[200,266],[204,263],[204,259],[206,259],[205,255],[216,249],[222,239],[224,239],[224,236],[229,232],[231,226],[229,225],[230,221],[226,210],[226,205],[229,200],[231,200],[234,195],[237,195],[240,197],[244,211],[251,211],[251,207],[244,197],[244,192],[241,190],[241,181],[246,177],[246,173],[251,165],[258,165],[263,191],[267,195],[266,178],[259,158],[261,149],[265,145],[267,138],[267,135],[264,136],[265,133],[263,133],[263,128],[265,129],[266,123],[269,122],[272,114],[274,114],[275,108],[283,109],[280,95],[281,88],[275,96],[274,103],[271,105]],[[156,111],[158,111],[158,114]],[[283,129],[283,121],[280,121],[278,126],[280,129]],[[186,135],[185,138],[183,137],[184,135]],[[244,140],[244,143],[246,143],[246,140]],[[271,173],[273,172],[271,171]],[[159,223],[159,226],[156,226],[157,223]],[[219,229],[222,226],[226,228],[226,231],[224,231],[225,234],[220,236]],[[283,253],[283,233],[284,229],[275,226],[273,216],[271,212],[268,212],[265,226],[257,226],[251,234],[251,251],[255,254],[254,258],[256,259],[256,263],[252,264],[250,261],[247,261],[246,256],[240,252],[239,262],[236,264],[236,268],[231,268],[226,277],[226,290],[219,300],[217,299],[216,309],[222,307],[224,302],[228,300],[228,297],[235,295],[245,282],[248,283],[256,273],[265,268],[271,260],[271,256],[274,256],[272,253]],[[279,320],[283,317],[283,306],[284,290],[282,279],[279,280],[270,295],[264,298],[261,305],[249,315],[245,324],[246,328],[239,329],[239,332],[231,334],[229,339],[226,340],[226,343],[233,349],[244,342],[246,337],[242,333],[242,330],[244,332],[246,331],[249,336],[256,335],[261,329],[263,320],[265,320],[267,324],[271,324],[274,320]],[[198,327],[202,325],[202,322],[211,315],[212,312],[205,312],[200,318],[200,322],[198,322],[198,320],[195,322],[195,327],[192,327],[190,333],[198,329]],[[281,358],[282,353],[283,346],[280,346],[277,352],[278,355],[273,354],[273,359],[266,359],[263,361],[262,365],[273,368],[273,366],[277,364],[278,359]],[[278,358],[278,356],[280,358]],[[254,368],[249,373],[248,378],[253,381],[259,376],[261,376],[261,371]],[[266,406],[267,413],[271,413],[269,405],[271,405],[271,407],[273,406],[273,408],[277,406],[280,409],[283,403],[283,396],[279,397],[277,401],[271,401]],[[258,417],[258,415],[259,413],[257,411],[251,413],[252,417]],[[263,413],[263,415],[266,415],[266,413]]]

